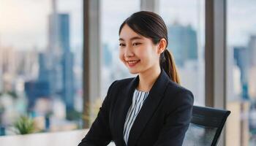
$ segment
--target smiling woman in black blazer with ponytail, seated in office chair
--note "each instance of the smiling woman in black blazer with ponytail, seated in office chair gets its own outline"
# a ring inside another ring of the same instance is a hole
[[[137,77],[110,85],[80,146],[182,145],[192,118],[193,95],[179,85],[167,50],[167,28],[154,12],[136,12],[119,28],[119,58]]]

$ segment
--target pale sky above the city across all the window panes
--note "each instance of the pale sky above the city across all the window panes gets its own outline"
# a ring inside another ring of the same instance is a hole
[[[71,45],[82,44],[82,0],[57,0],[59,12],[70,15]],[[192,25],[204,39],[204,1],[160,0],[159,14],[170,24],[178,21]],[[101,39],[110,45],[118,43],[118,28],[125,18],[139,11],[139,0],[102,0]],[[242,10],[241,10],[242,9]],[[18,49],[39,49],[47,46],[48,14],[51,0],[0,0],[0,45]],[[228,45],[246,45],[249,35],[256,34],[256,1],[227,1]]]

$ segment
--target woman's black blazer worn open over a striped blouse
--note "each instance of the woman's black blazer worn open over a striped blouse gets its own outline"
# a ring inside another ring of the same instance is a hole
[[[126,145],[124,122],[139,77],[116,80],[99,108],[96,120],[79,146]],[[128,146],[178,146],[192,118],[193,94],[161,69],[129,133]]]

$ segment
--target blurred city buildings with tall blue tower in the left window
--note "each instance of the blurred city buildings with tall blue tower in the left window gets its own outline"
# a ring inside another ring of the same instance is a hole
[[[71,51],[69,13],[60,13],[56,7],[53,0],[45,50],[17,50],[0,44],[0,126],[4,134],[12,134],[20,115],[41,119],[42,131],[82,127],[82,48]]]

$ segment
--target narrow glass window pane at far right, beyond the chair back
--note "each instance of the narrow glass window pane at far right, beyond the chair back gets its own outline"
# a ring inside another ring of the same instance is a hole
[[[227,1],[226,145],[256,145],[256,1]]]

